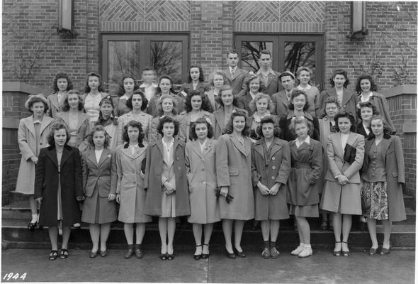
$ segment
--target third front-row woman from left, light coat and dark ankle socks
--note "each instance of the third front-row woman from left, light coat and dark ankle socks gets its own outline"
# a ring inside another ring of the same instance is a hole
[[[125,258],[131,258],[135,253],[142,258],[142,239],[145,235],[145,223],[152,218],[145,215],[144,160],[146,147],[142,143],[144,131],[138,121],[129,121],[123,127],[124,145],[115,151],[116,175],[112,176],[112,187],[116,188],[116,202],[120,203],[118,220],[123,222],[128,251]],[[136,243],[133,244],[134,224],[136,224]]]

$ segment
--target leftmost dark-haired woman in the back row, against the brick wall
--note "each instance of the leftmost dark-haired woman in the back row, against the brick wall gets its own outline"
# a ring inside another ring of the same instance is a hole
[[[50,106],[48,114],[52,119],[55,119],[57,113],[61,111],[67,92],[72,89],[71,79],[65,73],[58,73],[55,75],[52,83],[52,89],[54,89],[54,93],[47,97],[48,105]]]

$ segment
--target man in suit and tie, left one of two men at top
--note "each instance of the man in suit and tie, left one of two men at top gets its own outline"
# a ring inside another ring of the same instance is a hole
[[[227,75],[227,82],[232,86],[232,93],[236,96],[242,96],[247,90],[247,85],[244,82],[245,77],[248,75],[248,72],[243,69],[239,69],[238,64],[239,58],[238,53],[235,50],[231,50],[227,54],[227,69],[224,70],[225,75]]]

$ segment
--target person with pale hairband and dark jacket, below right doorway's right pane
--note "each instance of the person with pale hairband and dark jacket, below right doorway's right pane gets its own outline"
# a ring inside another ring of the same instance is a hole
[[[277,114],[277,116],[280,118],[281,116],[287,115],[289,113],[288,104],[290,101],[290,93],[295,86],[295,75],[293,75],[293,73],[290,71],[285,71],[278,76],[278,80],[281,80],[281,85],[284,89],[276,94],[273,94],[271,96],[271,100],[276,106],[275,114]]]

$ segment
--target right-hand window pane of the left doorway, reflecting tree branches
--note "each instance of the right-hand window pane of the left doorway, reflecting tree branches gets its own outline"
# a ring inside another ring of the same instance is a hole
[[[151,62],[158,75],[169,75],[174,84],[181,84],[181,41],[151,41]]]

